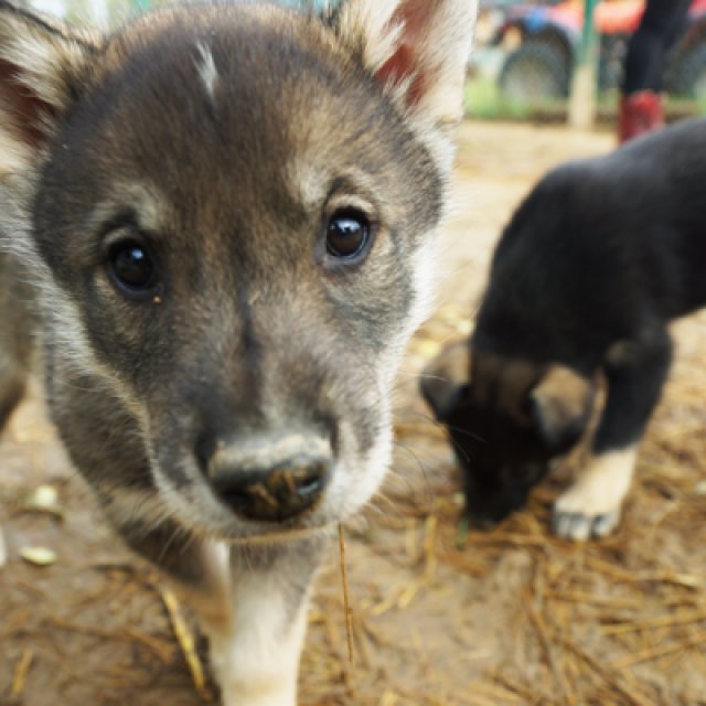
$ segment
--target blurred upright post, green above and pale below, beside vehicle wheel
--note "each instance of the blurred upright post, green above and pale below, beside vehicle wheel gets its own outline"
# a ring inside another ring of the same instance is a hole
[[[569,125],[587,130],[596,119],[599,38],[593,23],[598,0],[584,0],[584,31],[576,56],[569,100]]]

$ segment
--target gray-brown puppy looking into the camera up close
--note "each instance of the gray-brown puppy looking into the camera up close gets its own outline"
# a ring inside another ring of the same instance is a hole
[[[0,0],[0,414],[39,338],[73,462],[229,706],[296,703],[325,537],[388,463],[474,13],[201,4],[103,35]]]

